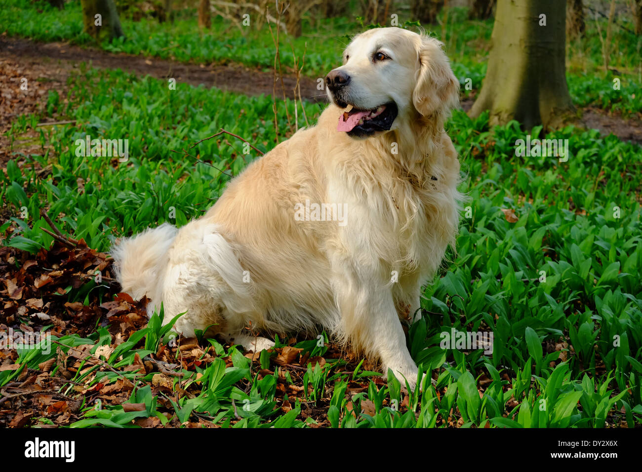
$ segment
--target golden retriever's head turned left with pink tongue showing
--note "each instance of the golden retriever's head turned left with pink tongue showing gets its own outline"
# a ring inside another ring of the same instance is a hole
[[[345,109],[337,130],[368,137],[401,122],[444,119],[459,103],[442,43],[401,28],[376,28],[356,36],[343,66],[325,77],[327,94]]]

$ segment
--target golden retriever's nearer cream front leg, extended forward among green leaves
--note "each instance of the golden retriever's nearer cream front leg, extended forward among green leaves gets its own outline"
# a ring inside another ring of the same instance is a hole
[[[402,386],[407,380],[412,389],[417,365],[406,347],[390,286],[368,270],[347,274],[345,268],[335,284],[345,334],[367,353],[379,356],[384,376],[391,369]]]

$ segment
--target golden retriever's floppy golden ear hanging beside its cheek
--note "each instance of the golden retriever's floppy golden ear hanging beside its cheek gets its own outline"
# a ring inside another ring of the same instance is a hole
[[[442,42],[421,37],[419,71],[412,102],[422,116],[440,114],[444,118],[459,106],[459,81],[450,68]]]

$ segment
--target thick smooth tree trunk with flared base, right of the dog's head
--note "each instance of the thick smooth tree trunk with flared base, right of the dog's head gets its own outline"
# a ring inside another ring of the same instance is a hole
[[[491,125],[516,119],[526,128],[570,118],[565,22],[559,0],[498,0],[488,69],[470,116],[490,110]]]

